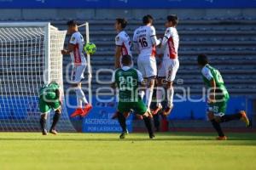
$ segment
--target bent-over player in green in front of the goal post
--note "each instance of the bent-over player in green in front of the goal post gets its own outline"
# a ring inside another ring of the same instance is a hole
[[[55,126],[61,116],[61,91],[60,86],[56,82],[50,82],[40,88],[39,91],[39,111],[41,112],[40,126],[43,135],[47,135],[47,130],[45,128],[47,115],[51,110],[55,111],[55,116],[53,117],[52,125],[49,129],[49,133],[57,134]]]

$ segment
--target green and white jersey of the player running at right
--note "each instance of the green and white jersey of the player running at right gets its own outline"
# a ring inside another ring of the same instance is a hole
[[[211,80],[213,78],[216,83],[216,93],[221,93],[225,96],[229,95],[227,88],[224,86],[224,80],[217,69],[211,65],[205,65],[201,70],[201,74],[208,88],[211,88]]]

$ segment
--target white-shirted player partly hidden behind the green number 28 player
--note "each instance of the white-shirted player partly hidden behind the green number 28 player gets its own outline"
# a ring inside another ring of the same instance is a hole
[[[118,32],[118,35],[115,37],[115,68],[121,68],[120,58],[124,55],[131,54],[131,40],[128,34],[125,32],[125,27],[127,25],[127,20],[125,19],[116,19],[114,23],[114,28]]]

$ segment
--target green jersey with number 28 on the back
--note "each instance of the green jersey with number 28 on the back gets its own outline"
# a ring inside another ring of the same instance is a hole
[[[136,69],[123,66],[115,71],[113,82],[119,88],[120,102],[137,102],[139,82],[143,81],[142,74]]]

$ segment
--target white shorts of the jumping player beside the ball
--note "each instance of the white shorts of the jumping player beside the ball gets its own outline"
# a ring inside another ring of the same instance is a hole
[[[71,73],[71,82],[79,83],[84,78],[86,65],[74,65]]]

